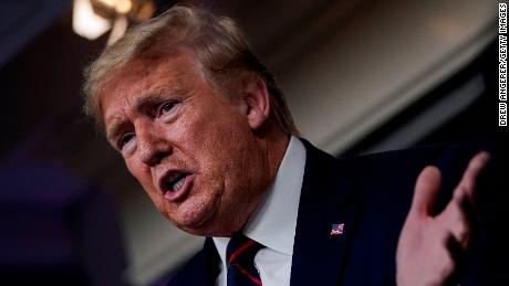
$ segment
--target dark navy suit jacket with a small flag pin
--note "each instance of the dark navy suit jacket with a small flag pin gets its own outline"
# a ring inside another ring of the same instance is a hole
[[[478,151],[450,145],[336,159],[303,141],[308,155],[293,246],[292,286],[395,285],[396,244],[417,174],[427,165],[440,168],[438,212]],[[334,223],[344,223],[342,235],[330,235]],[[168,285],[214,285],[218,265],[214,242],[207,239],[204,250]],[[479,283],[477,269],[475,266],[469,271],[466,279]]]

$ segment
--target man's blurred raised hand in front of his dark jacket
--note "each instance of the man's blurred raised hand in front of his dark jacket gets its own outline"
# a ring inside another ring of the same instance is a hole
[[[438,215],[433,209],[442,179],[436,167],[417,178],[412,206],[396,252],[398,286],[457,285],[457,271],[468,248],[474,223],[476,181],[489,160],[477,153],[469,162],[453,199]]]

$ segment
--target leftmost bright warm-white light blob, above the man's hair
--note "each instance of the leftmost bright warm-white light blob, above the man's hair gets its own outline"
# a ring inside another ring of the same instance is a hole
[[[72,28],[76,34],[94,40],[108,31],[112,24],[94,13],[90,0],[74,0]]]

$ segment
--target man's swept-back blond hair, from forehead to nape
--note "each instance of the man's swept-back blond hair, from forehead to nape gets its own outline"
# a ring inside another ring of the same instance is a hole
[[[274,75],[251,52],[236,22],[183,6],[131,29],[85,70],[85,113],[103,125],[98,95],[113,72],[135,59],[167,56],[181,47],[191,49],[206,80],[226,94],[243,75],[258,75],[268,87],[271,113],[280,127],[299,135]]]

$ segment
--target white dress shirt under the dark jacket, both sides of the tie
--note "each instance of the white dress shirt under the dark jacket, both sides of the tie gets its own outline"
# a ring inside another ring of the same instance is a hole
[[[249,239],[267,246],[254,256],[254,266],[260,272],[263,286],[290,285],[304,166],[304,145],[292,136],[273,184],[242,231]],[[229,241],[229,237],[214,237],[221,257],[217,286],[227,286],[226,248]]]

